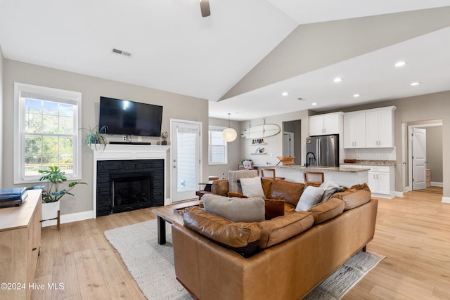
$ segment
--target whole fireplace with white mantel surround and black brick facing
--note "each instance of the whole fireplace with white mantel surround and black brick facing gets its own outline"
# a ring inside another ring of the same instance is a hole
[[[91,150],[94,155],[92,214],[94,219],[97,216],[118,212],[116,204],[120,204],[117,206],[125,210],[139,209],[148,204],[150,207],[166,204],[167,169],[165,167],[168,145],[108,144],[102,150],[94,146]],[[115,189],[122,190],[120,195],[114,197],[114,209],[113,181],[115,181]],[[126,181],[134,181],[134,183],[125,183]],[[117,184],[125,185],[125,187],[116,187]],[[142,190],[139,193],[135,192],[137,188]],[[131,190],[130,193],[134,195],[122,198],[126,190]]]

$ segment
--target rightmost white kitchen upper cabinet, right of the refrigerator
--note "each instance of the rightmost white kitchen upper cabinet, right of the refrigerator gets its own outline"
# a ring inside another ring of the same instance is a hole
[[[394,147],[394,107],[366,112],[366,148]]]

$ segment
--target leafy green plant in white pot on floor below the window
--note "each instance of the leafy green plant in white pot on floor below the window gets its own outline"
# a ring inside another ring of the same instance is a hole
[[[72,195],[70,190],[75,188],[78,184],[87,184],[80,181],[74,181],[69,183],[68,189],[59,190],[59,184],[68,180],[65,173],[59,169],[58,166],[49,166],[49,169],[39,170],[42,174],[39,181],[47,181],[47,185],[40,185],[38,188],[42,188],[42,221],[58,220],[59,230],[59,200],[65,195]],[[33,187],[36,188],[36,187]]]

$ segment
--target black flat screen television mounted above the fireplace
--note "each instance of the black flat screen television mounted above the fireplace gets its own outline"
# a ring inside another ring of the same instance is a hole
[[[100,97],[99,128],[127,136],[161,136],[162,106]]]

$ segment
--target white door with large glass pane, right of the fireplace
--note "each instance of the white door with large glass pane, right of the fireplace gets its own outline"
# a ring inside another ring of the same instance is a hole
[[[198,122],[171,120],[172,202],[195,198],[200,183],[200,130]]]

